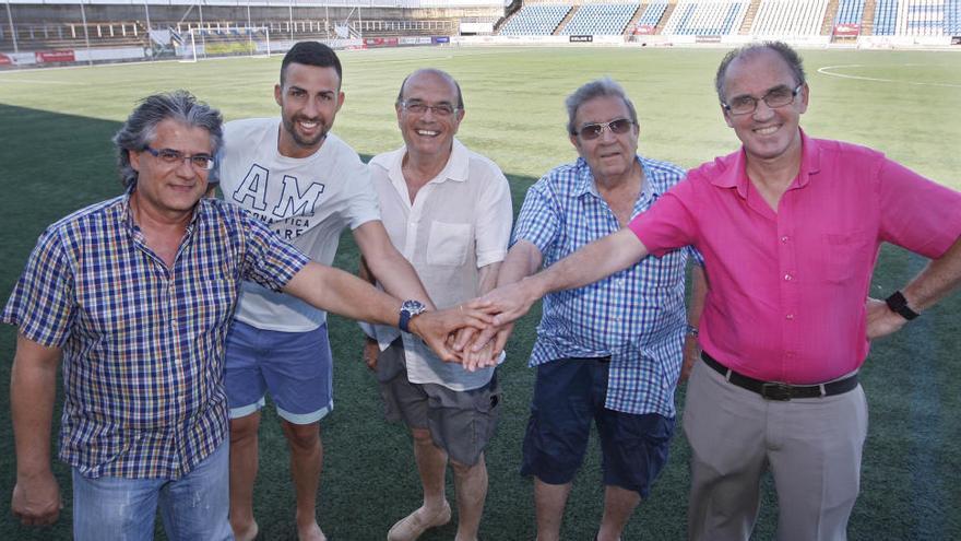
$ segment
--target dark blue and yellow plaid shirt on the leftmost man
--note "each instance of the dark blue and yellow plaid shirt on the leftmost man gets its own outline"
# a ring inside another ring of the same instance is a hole
[[[240,282],[278,290],[307,258],[202,199],[168,269],[128,197],[48,227],[0,320],[63,351],[63,461],[91,478],[179,479],[227,433],[224,339]]]

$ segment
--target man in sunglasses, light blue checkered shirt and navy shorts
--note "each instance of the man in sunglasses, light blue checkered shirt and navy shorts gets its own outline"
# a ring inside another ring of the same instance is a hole
[[[570,141],[580,154],[527,191],[498,285],[548,267],[614,233],[681,180],[681,168],[637,155],[638,117],[609,79],[567,98]],[[557,540],[571,480],[597,425],[605,484],[601,541],[616,540],[667,460],[683,351],[697,358],[705,292],[693,271],[689,317],[685,268],[692,248],[645,259],[594,284],[544,297],[531,354],[537,368],[521,472],[533,474],[538,541]],[[510,329],[498,333],[502,348]],[[687,340],[686,340],[687,337]]]

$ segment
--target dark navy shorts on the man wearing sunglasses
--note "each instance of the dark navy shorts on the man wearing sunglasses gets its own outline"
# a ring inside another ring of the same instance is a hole
[[[607,358],[561,358],[537,366],[521,474],[566,484],[584,461],[591,421],[597,425],[604,484],[646,498],[667,463],[675,420],[604,408]]]

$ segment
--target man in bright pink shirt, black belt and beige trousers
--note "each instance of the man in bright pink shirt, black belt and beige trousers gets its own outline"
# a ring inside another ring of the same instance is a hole
[[[684,413],[689,538],[748,539],[770,468],[779,540],[845,539],[867,434],[857,369],[869,339],[961,281],[961,193],[877,151],[809,138],[798,124],[810,91],[787,45],[729,52],[716,90],[738,152],[689,172],[628,227],[484,299],[503,324],[548,292],[693,245],[709,292],[704,362]],[[887,301],[867,296],[882,242],[933,259]]]

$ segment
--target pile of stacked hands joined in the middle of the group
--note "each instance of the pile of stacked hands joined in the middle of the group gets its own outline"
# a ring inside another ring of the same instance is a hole
[[[411,319],[411,331],[447,363],[460,363],[470,372],[497,366],[513,322],[539,298],[522,283],[503,285],[444,310],[425,311]],[[371,369],[378,353],[377,342],[368,341],[364,358]]]

